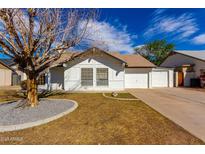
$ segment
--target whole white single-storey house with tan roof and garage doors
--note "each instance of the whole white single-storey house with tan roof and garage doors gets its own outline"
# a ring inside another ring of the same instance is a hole
[[[126,88],[173,87],[173,70],[156,68],[140,55],[121,55],[91,48],[68,52],[50,68],[50,90],[124,90]]]

